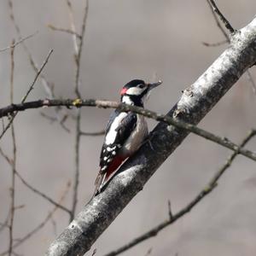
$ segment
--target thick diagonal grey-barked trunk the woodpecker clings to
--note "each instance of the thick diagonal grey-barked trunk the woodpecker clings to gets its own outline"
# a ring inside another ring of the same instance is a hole
[[[175,119],[198,124],[199,121],[256,62],[256,18],[231,35],[230,46],[194,84],[183,91],[168,113]],[[160,123],[149,141],[121,166],[107,188],[84,206],[73,222],[51,243],[46,255],[83,255],[108,228],[144,184],[189,134],[172,125]],[[97,170],[94,170],[96,172]]]

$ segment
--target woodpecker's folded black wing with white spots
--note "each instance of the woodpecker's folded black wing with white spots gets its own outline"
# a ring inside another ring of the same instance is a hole
[[[102,145],[102,152],[100,158],[100,166],[101,172],[107,171],[108,166],[111,164],[115,155],[118,154],[119,148],[125,143],[125,140],[130,137],[131,132],[135,129],[137,124],[137,114],[136,113],[127,113],[126,116],[120,121],[118,127],[113,129],[111,125],[113,124],[113,120],[119,114],[119,110],[115,110],[108,121],[108,125],[106,127],[106,135],[108,132],[113,132],[114,140],[113,143],[107,144],[106,141]]]

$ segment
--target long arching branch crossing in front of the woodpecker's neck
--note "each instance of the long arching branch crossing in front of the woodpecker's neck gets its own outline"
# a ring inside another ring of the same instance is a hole
[[[28,108],[43,108],[43,107],[57,107],[57,106],[66,106],[67,108],[71,107],[97,107],[97,108],[119,108],[120,111],[124,112],[134,112],[142,114],[143,116],[154,119],[156,121],[164,122],[168,125],[173,125],[177,128],[190,131],[200,137],[204,137],[207,140],[212,141],[213,143],[218,143],[219,145],[223,146],[224,148],[230,148],[233,151],[237,151],[239,154],[246,156],[251,160],[256,160],[256,153],[253,151],[239,148],[236,143],[230,141],[230,139],[226,137],[219,137],[212,132],[205,131],[196,125],[191,125],[188,123],[184,123],[183,121],[173,119],[171,116],[166,114],[155,113],[154,111],[140,108],[136,106],[126,105],[124,103],[119,102],[108,102],[108,101],[101,101],[101,100],[81,100],[81,99],[61,99],[61,100],[38,100],[35,102],[24,102],[21,104],[12,104],[5,108],[0,108],[0,118],[3,116],[8,115],[9,113],[13,113],[15,111],[22,111]]]

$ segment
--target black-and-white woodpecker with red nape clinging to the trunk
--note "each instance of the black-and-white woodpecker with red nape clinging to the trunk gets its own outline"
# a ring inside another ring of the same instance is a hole
[[[144,108],[150,90],[162,82],[146,84],[143,80],[131,80],[120,91],[121,102]],[[148,136],[148,124],[142,115],[132,112],[120,112],[116,109],[111,113],[105,129],[105,138],[100,157],[100,172],[96,177],[95,195],[112,177],[119,166],[143,143]]]

